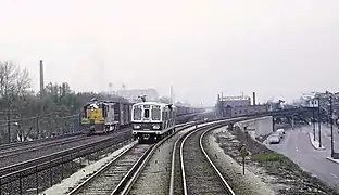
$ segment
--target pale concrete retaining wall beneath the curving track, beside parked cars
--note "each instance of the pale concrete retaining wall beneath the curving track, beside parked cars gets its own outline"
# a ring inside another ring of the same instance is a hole
[[[238,126],[241,130],[247,127],[247,130],[249,134],[252,138],[256,138],[260,135],[266,135],[273,132],[273,117],[261,117],[261,118],[253,118],[250,120],[244,120],[235,123],[235,126]]]

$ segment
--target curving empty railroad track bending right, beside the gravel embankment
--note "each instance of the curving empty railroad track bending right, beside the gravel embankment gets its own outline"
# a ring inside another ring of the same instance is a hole
[[[177,139],[173,147],[170,195],[235,195],[206,154],[202,143],[209,130],[222,126],[225,123],[201,127]]]

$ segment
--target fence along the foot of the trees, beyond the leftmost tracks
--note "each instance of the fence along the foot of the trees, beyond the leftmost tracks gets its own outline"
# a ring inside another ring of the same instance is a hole
[[[0,144],[78,131],[80,131],[78,114],[70,116],[48,114],[28,118],[14,116],[10,120],[0,120]]]

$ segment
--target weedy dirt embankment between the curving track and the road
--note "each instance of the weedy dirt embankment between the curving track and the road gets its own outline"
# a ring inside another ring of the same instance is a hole
[[[246,144],[249,151],[246,168],[260,176],[276,194],[339,195],[332,187],[303,171],[286,156],[268,150],[240,130],[225,130],[214,136],[224,152],[240,165],[242,158],[239,148]]]

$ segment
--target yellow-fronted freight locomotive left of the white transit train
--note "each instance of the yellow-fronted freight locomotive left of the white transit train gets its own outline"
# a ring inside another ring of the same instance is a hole
[[[84,106],[83,129],[88,134],[106,133],[130,123],[129,103],[92,99]]]

